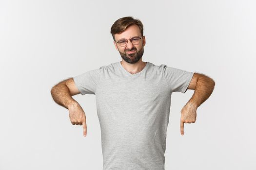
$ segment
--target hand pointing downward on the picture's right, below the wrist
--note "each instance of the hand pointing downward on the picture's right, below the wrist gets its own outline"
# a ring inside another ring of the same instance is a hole
[[[197,106],[188,102],[180,111],[180,134],[184,135],[184,123],[195,123],[197,119]]]

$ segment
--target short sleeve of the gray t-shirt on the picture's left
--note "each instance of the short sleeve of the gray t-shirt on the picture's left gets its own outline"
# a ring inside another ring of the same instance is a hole
[[[101,68],[93,69],[73,77],[75,85],[82,95],[96,94],[100,79],[100,70]]]

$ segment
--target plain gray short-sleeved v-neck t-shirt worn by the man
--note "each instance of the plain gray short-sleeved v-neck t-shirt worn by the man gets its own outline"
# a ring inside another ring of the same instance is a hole
[[[150,62],[131,74],[119,61],[74,77],[82,95],[96,95],[103,170],[164,170],[171,94],[193,74]]]

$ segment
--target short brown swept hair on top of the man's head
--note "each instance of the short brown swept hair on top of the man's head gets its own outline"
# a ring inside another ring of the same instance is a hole
[[[114,41],[115,41],[115,34],[122,33],[129,26],[134,25],[134,24],[138,25],[141,36],[143,36],[143,24],[139,19],[134,19],[131,16],[121,17],[114,22],[114,24],[112,25],[111,30],[110,30],[110,33],[112,34]]]

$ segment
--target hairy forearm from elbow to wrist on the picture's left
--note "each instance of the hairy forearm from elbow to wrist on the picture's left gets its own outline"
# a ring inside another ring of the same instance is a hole
[[[64,82],[60,82],[58,85],[55,85],[51,89],[51,95],[57,104],[65,107],[66,109],[68,109],[72,104],[78,103],[72,98],[70,91]]]

